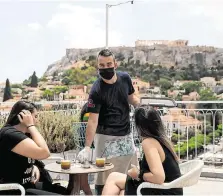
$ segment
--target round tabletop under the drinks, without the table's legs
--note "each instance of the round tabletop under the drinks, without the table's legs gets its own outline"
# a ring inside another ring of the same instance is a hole
[[[108,171],[113,169],[114,165],[106,165],[104,168],[98,168],[95,165],[90,165],[90,168],[83,168],[81,164],[72,164],[69,170],[61,169],[60,164],[50,163],[45,166],[45,169],[54,172],[54,173],[63,173],[63,174],[86,174],[86,173],[98,173]]]

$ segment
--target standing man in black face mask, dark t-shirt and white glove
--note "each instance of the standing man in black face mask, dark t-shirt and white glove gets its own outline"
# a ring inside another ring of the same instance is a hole
[[[106,162],[114,164],[112,171],[126,173],[131,163],[136,164],[136,150],[130,134],[130,106],[139,105],[134,95],[130,76],[117,72],[113,53],[104,49],[98,54],[100,78],[94,83],[88,99],[89,119],[86,128],[85,148],[78,158],[88,159],[90,146],[94,140],[96,157],[106,157]],[[134,160],[133,160],[134,159]],[[112,171],[98,174],[95,185],[101,194],[104,183]]]

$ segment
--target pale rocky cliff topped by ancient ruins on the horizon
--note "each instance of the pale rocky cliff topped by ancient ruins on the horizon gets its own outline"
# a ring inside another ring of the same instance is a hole
[[[66,49],[61,60],[48,66],[46,75],[54,71],[69,69],[73,64],[84,64],[89,56],[96,56],[102,48]],[[186,67],[189,64],[215,66],[223,62],[223,49],[213,46],[189,46],[188,40],[137,40],[135,47],[119,46],[110,48],[117,60],[128,63],[140,61],[141,64]]]

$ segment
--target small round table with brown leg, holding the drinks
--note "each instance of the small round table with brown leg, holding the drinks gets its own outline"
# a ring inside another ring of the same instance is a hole
[[[106,165],[104,168],[98,168],[95,165],[90,165],[90,168],[83,168],[81,164],[72,164],[69,170],[62,170],[60,164],[50,163],[45,166],[49,172],[69,174],[69,183],[67,186],[67,194],[80,194],[80,176],[81,174],[90,174],[108,171],[114,168],[114,165]]]

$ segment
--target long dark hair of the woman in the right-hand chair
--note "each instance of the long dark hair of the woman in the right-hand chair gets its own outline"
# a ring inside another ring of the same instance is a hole
[[[135,111],[135,124],[138,133],[143,138],[154,138],[163,144],[178,161],[173,145],[168,139],[159,113],[152,108],[137,108]]]

